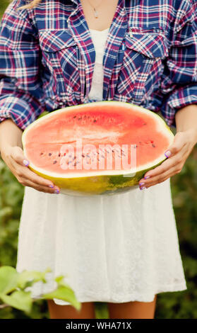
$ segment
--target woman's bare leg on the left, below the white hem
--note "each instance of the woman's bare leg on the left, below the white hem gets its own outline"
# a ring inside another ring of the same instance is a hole
[[[80,311],[71,305],[57,305],[54,300],[47,300],[51,319],[95,319],[93,302],[81,303]]]

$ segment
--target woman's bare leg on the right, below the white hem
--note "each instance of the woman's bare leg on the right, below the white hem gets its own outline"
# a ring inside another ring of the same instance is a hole
[[[108,303],[111,319],[153,319],[156,295],[153,302]]]

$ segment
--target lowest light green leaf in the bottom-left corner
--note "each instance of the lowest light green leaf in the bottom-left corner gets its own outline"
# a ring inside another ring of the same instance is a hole
[[[32,308],[32,298],[30,291],[25,292],[23,290],[16,290],[13,291],[10,296],[0,294],[0,298],[4,303],[11,305],[12,307],[16,307],[18,310],[30,312]]]

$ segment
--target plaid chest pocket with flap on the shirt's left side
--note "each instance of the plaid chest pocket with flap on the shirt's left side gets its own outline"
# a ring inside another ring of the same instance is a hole
[[[57,101],[66,101],[73,89],[80,90],[77,43],[65,30],[43,30],[40,48],[48,84]]]

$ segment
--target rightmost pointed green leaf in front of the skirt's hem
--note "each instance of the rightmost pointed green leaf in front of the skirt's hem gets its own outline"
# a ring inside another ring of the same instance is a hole
[[[76,310],[80,310],[80,303],[76,299],[76,295],[73,290],[68,286],[58,286],[56,290],[52,291],[52,293],[47,293],[42,295],[42,298],[46,300],[52,300],[53,298],[58,298],[59,300],[65,300],[68,303],[71,303]]]

